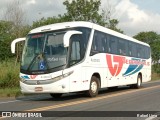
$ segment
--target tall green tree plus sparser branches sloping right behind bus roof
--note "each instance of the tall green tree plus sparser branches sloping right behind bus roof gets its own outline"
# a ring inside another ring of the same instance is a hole
[[[107,8],[102,9],[101,13],[99,13],[100,0],[66,0],[63,4],[67,9],[67,13],[64,14],[66,21],[90,21],[123,33],[123,31],[117,28],[119,21],[111,19],[113,9],[109,3]]]

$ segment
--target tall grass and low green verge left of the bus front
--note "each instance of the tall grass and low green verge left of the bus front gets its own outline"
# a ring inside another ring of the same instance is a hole
[[[19,68],[15,59],[0,63],[0,97],[13,97],[20,93]]]

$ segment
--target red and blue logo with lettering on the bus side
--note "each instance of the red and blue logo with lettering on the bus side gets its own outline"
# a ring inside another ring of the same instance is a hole
[[[129,64],[127,70],[122,74],[123,76],[132,75],[138,71],[140,71],[144,65],[149,66],[150,62],[146,62],[146,60],[140,58],[132,58],[131,60],[127,59],[124,56],[116,56],[116,55],[106,55],[108,69],[112,76],[118,76],[121,72],[124,64]]]

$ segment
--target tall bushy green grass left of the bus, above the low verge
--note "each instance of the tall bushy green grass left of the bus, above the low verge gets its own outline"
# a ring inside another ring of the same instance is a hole
[[[13,88],[19,86],[19,64],[13,60],[0,63],[0,88]]]

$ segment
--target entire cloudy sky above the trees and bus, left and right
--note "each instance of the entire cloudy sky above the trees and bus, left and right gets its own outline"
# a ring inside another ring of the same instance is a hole
[[[6,6],[13,0],[0,0],[0,19]],[[52,17],[66,12],[63,0],[19,0],[26,12],[28,24],[42,17]],[[112,6],[112,18],[119,20],[118,27],[129,36],[142,31],[160,34],[159,0],[108,0]],[[101,0],[101,8],[107,7],[107,0]]]

